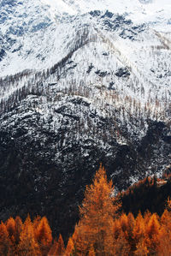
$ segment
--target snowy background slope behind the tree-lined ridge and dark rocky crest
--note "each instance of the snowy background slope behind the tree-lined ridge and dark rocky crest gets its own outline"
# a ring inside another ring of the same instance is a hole
[[[82,17],[79,16],[95,9],[103,12],[109,9],[114,14],[127,14],[127,19],[131,19],[135,26],[145,23],[158,32],[162,30],[163,33],[170,33],[169,2],[3,0],[0,3],[0,76],[15,74],[27,68],[49,68],[60,61],[66,52],[63,46],[69,37],[72,40],[71,36],[75,33],[74,23],[80,22],[81,27]],[[75,22],[71,16],[75,17]],[[91,21],[90,15],[85,17],[83,22],[87,22],[87,25],[96,25],[96,21]],[[148,44],[150,40],[153,39],[148,38]]]

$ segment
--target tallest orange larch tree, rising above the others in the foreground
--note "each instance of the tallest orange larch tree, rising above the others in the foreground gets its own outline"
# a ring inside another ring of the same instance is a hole
[[[80,206],[80,223],[76,227],[75,247],[86,255],[93,247],[97,256],[114,255],[114,217],[121,204],[113,196],[112,181],[108,182],[101,166],[93,183],[85,188],[85,199]]]

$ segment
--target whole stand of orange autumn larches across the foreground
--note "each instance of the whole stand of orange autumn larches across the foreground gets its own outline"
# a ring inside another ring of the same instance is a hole
[[[147,185],[147,181],[150,188],[155,182],[161,182],[149,177],[134,186],[134,191],[143,184]],[[133,188],[130,188],[132,194]],[[122,196],[128,193],[127,190]],[[150,211],[144,212],[144,215],[139,211],[135,217],[132,212],[124,213],[121,195],[114,194],[113,183],[108,182],[106,171],[101,166],[92,184],[85,188],[80,221],[66,244],[62,235],[57,239],[52,237],[46,217],[31,220],[28,215],[24,223],[21,217],[10,217],[0,224],[0,255],[170,255],[170,199],[161,217]]]

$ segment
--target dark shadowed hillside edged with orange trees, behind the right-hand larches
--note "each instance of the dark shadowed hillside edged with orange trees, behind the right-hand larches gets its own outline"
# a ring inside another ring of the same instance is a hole
[[[170,166],[168,166],[170,173]],[[139,181],[127,191],[118,195],[121,198],[123,211],[133,212],[134,216],[139,211],[144,214],[146,211],[156,212],[160,216],[166,208],[167,201],[170,198],[170,174],[162,179],[146,177],[143,181]]]

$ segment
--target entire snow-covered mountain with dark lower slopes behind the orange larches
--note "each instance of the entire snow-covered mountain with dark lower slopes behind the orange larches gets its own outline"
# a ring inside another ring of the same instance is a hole
[[[0,217],[45,214],[67,234],[100,162],[117,189],[162,176],[169,2],[1,1]]]

